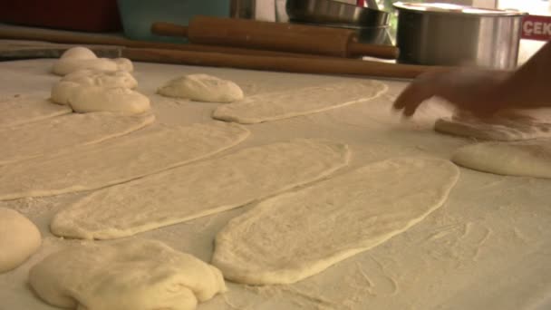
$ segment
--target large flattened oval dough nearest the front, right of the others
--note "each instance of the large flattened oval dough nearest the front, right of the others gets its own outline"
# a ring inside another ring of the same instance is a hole
[[[391,159],[266,199],[218,233],[212,264],[239,283],[294,283],[420,222],[458,178],[448,160]]]

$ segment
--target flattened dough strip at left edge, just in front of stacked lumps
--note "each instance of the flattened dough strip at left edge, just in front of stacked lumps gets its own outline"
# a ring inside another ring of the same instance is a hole
[[[154,120],[153,115],[72,113],[20,126],[0,128],[0,165],[118,137],[137,131]]]

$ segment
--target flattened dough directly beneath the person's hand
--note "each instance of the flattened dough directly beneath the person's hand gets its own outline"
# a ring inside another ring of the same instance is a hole
[[[481,140],[529,140],[551,137],[551,122],[513,112],[485,120],[460,115],[436,121],[434,130]]]

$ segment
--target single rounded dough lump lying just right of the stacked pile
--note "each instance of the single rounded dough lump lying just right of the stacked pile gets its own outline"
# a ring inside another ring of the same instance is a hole
[[[158,91],[161,95],[196,102],[236,102],[243,91],[235,83],[208,74],[190,74],[169,81]]]

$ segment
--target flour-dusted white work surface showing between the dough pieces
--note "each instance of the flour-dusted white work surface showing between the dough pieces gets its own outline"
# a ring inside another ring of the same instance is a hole
[[[48,97],[53,82],[59,79],[48,73],[52,63],[52,60],[0,63],[0,96]],[[217,107],[213,103],[176,101],[154,94],[162,83],[181,74],[209,73],[233,80],[247,95],[285,92],[345,79],[351,84],[361,82],[344,77],[150,63],[136,63],[135,67],[139,91],[150,96],[157,120],[171,124],[208,121]],[[279,140],[325,138],[349,143],[353,151],[351,165],[337,172],[342,173],[396,156],[449,159],[453,150],[473,142],[431,131],[437,117],[449,114],[437,104],[424,107],[412,121],[401,121],[391,113],[391,102],[406,83],[386,83],[389,91],[369,102],[247,126],[252,131],[251,137],[224,154]],[[216,190],[213,189],[214,194]],[[43,233],[39,253],[23,266],[0,275],[1,310],[54,309],[33,295],[26,282],[27,273],[53,251],[74,242],[92,242],[53,237],[48,230],[53,214],[82,195],[0,202],[2,207],[22,212]],[[162,240],[208,262],[218,230],[248,208],[136,237]],[[461,169],[459,182],[444,206],[382,245],[295,285],[241,286],[228,282],[228,288],[226,294],[217,295],[198,308],[550,309],[551,180],[502,177]]]

